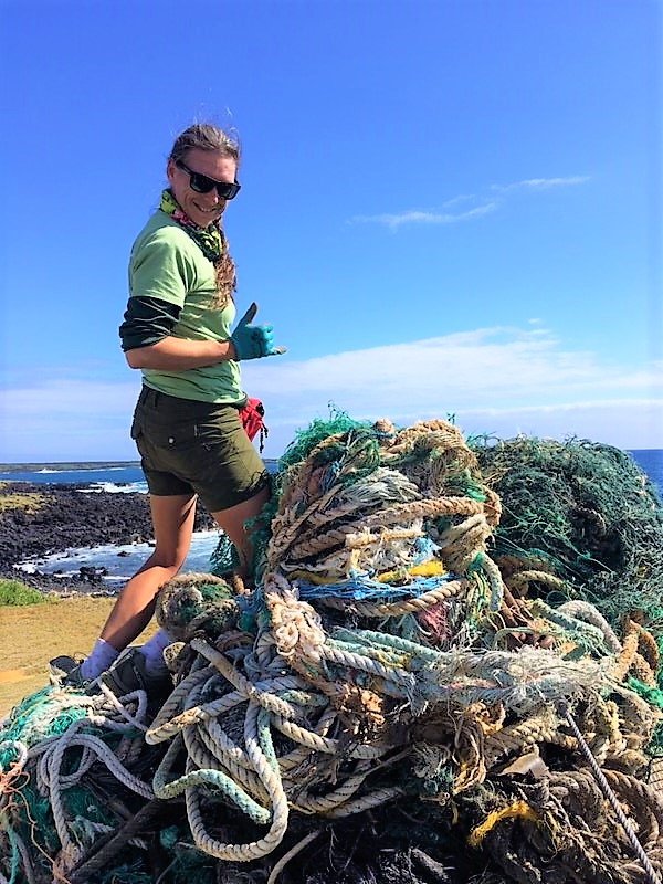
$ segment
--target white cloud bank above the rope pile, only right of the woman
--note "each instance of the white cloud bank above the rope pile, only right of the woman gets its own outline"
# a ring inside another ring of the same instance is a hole
[[[564,349],[538,326],[257,362],[245,367],[244,380],[265,398],[267,423],[283,428],[282,444],[294,427],[326,417],[328,402],[358,419],[399,423],[454,413],[472,420],[469,432],[514,435],[527,425],[533,434],[592,438],[596,420],[597,433],[613,444],[657,448],[663,438],[660,366],[606,365],[590,351]]]

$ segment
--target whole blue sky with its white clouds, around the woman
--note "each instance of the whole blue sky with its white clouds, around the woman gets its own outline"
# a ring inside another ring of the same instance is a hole
[[[238,128],[243,367],[278,456],[329,403],[663,448],[663,4],[3,0],[0,462],[133,460],[131,242]]]

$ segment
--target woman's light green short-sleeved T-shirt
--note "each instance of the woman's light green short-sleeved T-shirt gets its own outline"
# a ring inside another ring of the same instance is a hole
[[[168,334],[186,340],[228,340],[235,318],[229,299],[223,309],[211,307],[215,295],[214,265],[193,240],[162,211],[143,228],[129,259],[129,309],[133,297],[172,305],[177,316]],[[126,323],[125,323],[126,325]],[[157,333],[155,339],[164,337]],[[245,400],[239,364],[223,360],[183,371],[141,369],[147,387],[180,399],[239,404]]]

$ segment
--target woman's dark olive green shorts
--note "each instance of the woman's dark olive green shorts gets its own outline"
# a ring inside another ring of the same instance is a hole
[[[196,493],[209,509],[229,509],[270,484],[234,406],[179,399],[143,387],[131,439],[149,493]]]

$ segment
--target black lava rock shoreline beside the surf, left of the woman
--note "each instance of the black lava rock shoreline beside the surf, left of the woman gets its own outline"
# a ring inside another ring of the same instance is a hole
[[[19,578],[42,590],[90,591],[101,575],[81,569],[67,586],[53,575],[24,575],[14,565],[27,558],[99,544],[154,543],[149,501],[137,492],[90,492],[86,485],[0,483],[0,576]],[[213,527],[198,504],[196,530]]]

